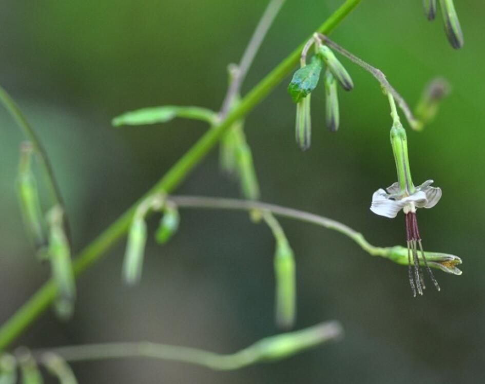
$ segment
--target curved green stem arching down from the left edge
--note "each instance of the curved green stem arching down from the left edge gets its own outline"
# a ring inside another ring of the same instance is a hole
[[[59,184],[54,176],[54,170],[52,165],[49,161],[49,157],[47,156],[47,152],[42,146],[41,141],[38,139],[34,129],[27,121],[27,118],[24,116],[18,105],[15,101],[11,98],[10,94],[0,86],[0,102],[4,105],[4,107],[10,113],[10,116],[15,120],[17,126],[20,130],[24,133],[24,136],[27,138],[28,141],[32,143],[34,151],[40,161],[41,169],[44,172],[46,182],[49,187],[49,192],[53,201],[53,205],[59,205],[63,210],[63,220],[66,227],[66,233],[70,240],[70,230],[69,230],[69,221],[67,218],[67,211],[66,206],[64,204],[64,200],[62,198],[61,189],[59,188]]]

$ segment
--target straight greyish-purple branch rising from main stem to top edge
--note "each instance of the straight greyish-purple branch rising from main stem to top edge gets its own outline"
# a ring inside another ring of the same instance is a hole
[[[253,64],[256,54],[263,43],[264,37],[268,33],[271,24],[273,24],[275,21],[275,18],[285,1],[286,0],[271,0],[266,7],[261,20],[259,21],[258,26],[256,27],[253,36],[251,36],[251,40],[243,53],[241,62],[237,66],[235,76],[229,85],[229,89],[227,90],[224,102],[222,103],[221,112],[219,114],[220,119],[224,119],[227,116],[234,98],[241,90],[242,83],[246,78],[246,74],[249,71],[251,64]]]

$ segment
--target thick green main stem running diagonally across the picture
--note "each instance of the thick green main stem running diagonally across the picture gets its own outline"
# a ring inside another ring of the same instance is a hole
[[[346,0],[346,2],[328,17],[318,32],[329,34],[344,18],[361,3],[362,0]],[[305,39],[305,43],[308,39]],[[137,205],[147,196],[165,192],[170,193],[200,163],[207,153],[219,142],[228,128],[236,121],[261,103],[276,86],[298,65],[301,51],[305,43],[301,44],[273,71],[268,73],[241,100],[228,116],[218,125],[209,129],[186,153],[175,163],[162,179],[154,185],[148,193],[129,208],[120,218],[115,220],[98,238],[94,239],[74,261],[74,273],[82,274],[87,268],[98,261],[108,249],[120,240],[128,231]],[[0,328],[0,350],[5,349],[18,337],[42,312],[51,304],[56,296],[56,287],[52,280],[47,281],[21,308]]]

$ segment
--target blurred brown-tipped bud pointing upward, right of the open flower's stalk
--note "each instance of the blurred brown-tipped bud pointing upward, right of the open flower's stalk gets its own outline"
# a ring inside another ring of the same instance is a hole
[[[449,93],[450,85],[444,79],[435,79],[426,86],[414,111],[420,122],[420,128],[435,119],[440,101]]]

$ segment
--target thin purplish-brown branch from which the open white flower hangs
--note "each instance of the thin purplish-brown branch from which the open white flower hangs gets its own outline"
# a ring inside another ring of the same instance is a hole
[[[408,120],[411,128],[413,128],[413,129],[419,129],[420,128],[420,122],[418,120],[416,120],[416,118],[414,117],[414,114],[413,114],[413,112],[411,112],[411,108],[409,107],[408,103],[406,103],[404,98],[399,94],[398,91],[396,91],[396,89],[391,85],[391,83],[389,83],[389,81],[387,81],[385,74],[380,69],[377,69],[377,68],[373,67],[372,65],[364,62],[362,59],[360,59],[360,57],[357,57],[356,55],[354,55],[354,54],[350,53],[349,51],[347,51],[346,49],[342,48],[340,45],[338,45],[334,41],[328,39],[328,37],[325,36],[323,33],[318,33],[318,36],[328,46],[332,47],[337,52],[341,53],[342,55],[344,55],[345,57],[350,59],[352,62],[354,62],[355,64],[364,68],[367,72],[370,72],[377,79],[377,81],[380,83],[382,88],[386,92],[389,92],[393,95],[393,97],[397,101],[399,107],[404,112],[404,115],[405,115],[406,119]]]

